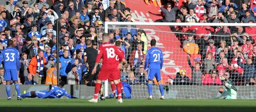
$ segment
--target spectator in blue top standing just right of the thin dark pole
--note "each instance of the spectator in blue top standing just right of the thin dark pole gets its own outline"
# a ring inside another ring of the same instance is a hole
[[[63,45],[62,45],[63,46]],[[60,61],[61,61],[61,68],[60,68],[60,76],[61,76],[61,81],[64,81],[67,83],[67,74],[71,70],[71,58],[68,57],[68,50],[65,49],[63,50],[63,56],[61,56]]]

